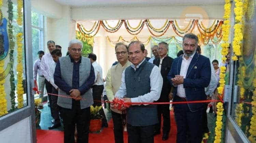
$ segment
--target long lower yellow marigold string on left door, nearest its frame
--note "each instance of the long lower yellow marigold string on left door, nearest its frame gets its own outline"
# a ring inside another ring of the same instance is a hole
[[[18,108],[22,108],[24,106],[24,89],[22,85],[23,81],[23,66],[22,66],[22,41],[23,34],[18,33],[17,36],[17,97],[18,97]]]

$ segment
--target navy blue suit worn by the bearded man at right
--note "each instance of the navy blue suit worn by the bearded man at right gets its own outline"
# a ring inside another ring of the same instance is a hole
[[[173,60],[172,68],[167,76],[172,84],[171,78],[180,75],[182,57]],[[195,53],[189,64],[186,77],[184,77],[183,87],[185,89],[187,101],[206,100],[204,88],[207,87],[211,79],[211,65],[209,58]],[[177,96],[177,87],[173,90],[173,101],[184,101]],[[203,103],[175,104],[174,114],[177,124],[177,143],[186,143],[186,135],[189,135],[191,143],[201,143],[202,141],[202,108]]]

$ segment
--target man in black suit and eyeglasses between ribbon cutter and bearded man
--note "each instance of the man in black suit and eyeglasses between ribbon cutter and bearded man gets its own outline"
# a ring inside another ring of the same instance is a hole
[[[171,84],[167,79],[167,75],[171,69],[173,59],[168,56],[168,44],[166,42],[161,42],[158,44],[158,54],[159,57],[154,59],[153,64],[158,66],[159,71],[161,72],[161,75],[163,77],[163,86],[160,98],[157,102],[169,102],[171,100],[169,97],[172,96],[172,93],[170,90]],[[156,125],[155,135],[160,134],[161,115],[163,115],[163,141],[169,138],[169,132],[171,128],[169,106],[169,104],[157,105],[159,123]]]

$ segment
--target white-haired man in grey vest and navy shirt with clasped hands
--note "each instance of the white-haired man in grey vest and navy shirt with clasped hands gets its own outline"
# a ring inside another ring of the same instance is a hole
[[[95,75],[90,59],[81,56],[82,48],[80,40],[71,40],[69,55],[59,58],[54,72],[59,95],[67,96],[58,96],[57,102],[63,118],[64,143],[74,143],[75,124],[77,143],[88,143],[90,106],[93,104],[91,86]]]

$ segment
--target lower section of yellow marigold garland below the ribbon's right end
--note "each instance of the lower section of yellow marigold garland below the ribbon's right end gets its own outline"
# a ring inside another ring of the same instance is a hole
[[[215,127],[215,137],[214,143],[221,142],[221,135],[222,135],[222,116],[223,116],[223,103],[219,102],[217,104],[217,117],[216,117],[216,127]]]

